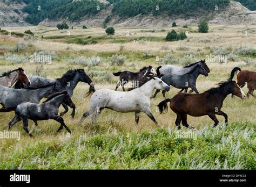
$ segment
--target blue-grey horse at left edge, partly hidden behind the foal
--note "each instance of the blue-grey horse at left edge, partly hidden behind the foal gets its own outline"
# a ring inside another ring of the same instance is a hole
[[[10,112],[22,102],[39,103],[40,100],[53,92],[56,83],[44,85],[39,88],[13,89],[0,86],[0,112]]]

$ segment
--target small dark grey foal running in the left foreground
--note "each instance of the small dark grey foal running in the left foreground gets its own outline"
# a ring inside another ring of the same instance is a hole
[[[73,104],[68,92],[66,90],[62,92],[53,93],[45,102],[42,104],[30,103],[30,102],[23,102],[19,104],[15,110],[15,117],[9,123],[9,130],[12,126],[14,126],[18,121],[23,121],[23,129],[28,133],[30,136],[33,136],[29,133],[28,130],[28,123],[29,119],[35,121],[37,120],[47,120],[53,119],[60,123],[60,127],[58,128],[57,132],[62,130],[63,126],[66,130],[71,133],[69,127],[67,127],[64,123],[62,117],[58,116],[58,110],[60,104],[65,103],[68,105]],[[37,123],[36,123],[37,124]]]

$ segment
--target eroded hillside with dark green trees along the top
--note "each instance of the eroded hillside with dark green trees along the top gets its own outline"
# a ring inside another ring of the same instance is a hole
[[[138,8],[134,3],[131,4],[129,10],[124,8],[127,6],[126,1],[120,1],[119,4],[114,4],[117,1],[109,3],[99,2],[76,2],[71,0],[51,1],[43,4],[41,0],[29,1],[17,0],[16,3],[0,2],[0,26],[27,26],[38,24],[43,26],[56,26],[58,23],[65,21],[70,26],[103,26],[107,16],[110,17],[107,25],[112,26],[129,26],[129,27],[165,27],[171,26],[173,21],[178,25],[197,24],[199,20],[206,19],[209,23],[221,25],[255,25],[256,11],[251,11],[239,2],[231,1],[229,4],[214,0],[198,10],[196,3],[187,3],[184,6],[180,5],[180,9],[171,10],[171,5],[167,6],[166,1],[163,1],[161,8],[164,10],[155,11],[148,3],[143,6],[143,0],[136,0]],[[241,0],[239,0],[241,1]],[[25,3],[29,3],[27,6]],[[42,11],[37,11],[37,4],[42,4]],[[126,2],[122,4],[122,2]],[[150,1],[149,1],[150,2]],[[173,1],[174,3],[175,1]],[[244,3],[244,1],[242,1]],[[165,3],[165,4],[164,4]],[[213,4],[212,4],[213,3]],[[212,10],[214,3],[219,3],[218,10]],[[95,7],[99,5],[100,11],[96,11]],[[185,7],[185,8],[184,8]],[[185,12],[185,13],[184,13]]]

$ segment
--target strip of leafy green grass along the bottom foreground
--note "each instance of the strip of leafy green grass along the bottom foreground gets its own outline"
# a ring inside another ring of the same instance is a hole
[[[115,131],[116,127],[87,124],[93,134],[38,141],[22,151],[10,146],[0,157],[0,169],[256,168],[255,126],[251,123],[207,126],[196,132],[196,140],[176,138],[178,131],[171,127],[140,133]]]

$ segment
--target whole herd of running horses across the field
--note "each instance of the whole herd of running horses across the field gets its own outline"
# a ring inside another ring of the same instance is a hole
[[[238,71],[240,72],[238,73]],[[62,77],[50,80],[38,76],[29,78],[24,69],[18,68],[0,76],[0,104],[2,105],[0,112],[15,111],[15,116],[9,123],[9,130],[22,120],[24,130],[32,136],[28,130],[29,119],[33,120],[35,125],[38,120],[53,119],[60,123],[57,132],[65,127],[71,133],[62,116],[68,112],[69,106],[73,109],[71,117],[74,118],[76,106],[71,97],[78,82],[84,82],[90,86],[85,96],[87,97],[91,93],[92,95],[90,109],[83,114],[79,123],[83,123],[88,116],[91,116],[94,121],[102,110],[111,109],[117,112],[134,112],[137,124],[140,112],[144,112],[159,126],[150,110],[150,98],[156,97],[160,90],[163,90],[165,97],[165,92],[169,91],[172,85],[181,90],[174,97],[167,98],[158,104],[160,113],[168,111],[167,103],[170,102],[170,108],[177,116],[175,124],[178,129],[181,128],[180,124],[187,128],[194,128],[187,124],[187,115],[194,117],[208,115],[214,121],[214,126],[217,126],[219,121],[215,115],[223,116],[225,123],[228,122],[227,114],[221,111],[224,99],[228,95],[232,94],[232,96],[244,99],[245,93],[241,88],[247,86],[247,96],[255,97],[253,91],[256,89],[256,72],[235,67],[227,81],[220,82],[216,88],[199,93],[196,88],[197,78],[199,75],[208,76],[209,73],[210,69],[205,60],[184,67],[159,66],[156,71],[149,66],[136,73],[131,71],[113,73],[114,76],[119,76],[115,90],[95,90],[91,78],[84,69],[70,69]],[[233,81],[235,74],[237,74],[237,83]],[[125,84],[128,82],[137,82],[138,84],[133,84],[126,91]],[[120,85],[123,91],[117,91]],[[188,88],[191,88],[190,93],[187,93]],[[151,96],[154,89],[156,92]],[[192,94],[193,91],[197,94]],[[47,99],[40,103],[43,98]],[[64,107],[65,111],[58,115],[60,105]]]

